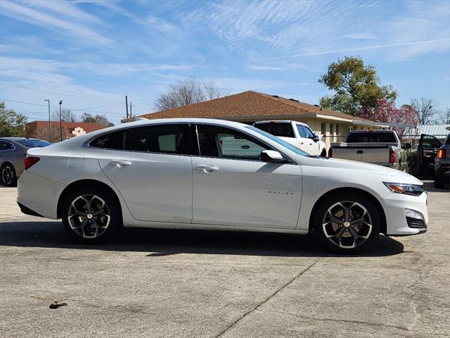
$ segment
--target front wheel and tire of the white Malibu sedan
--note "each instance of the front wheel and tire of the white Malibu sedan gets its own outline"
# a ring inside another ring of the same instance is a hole
[[[352,224],[354,220],[361,222]],[[329,196],[322,201],[314,216],[316,235],[328,251],[335,253],[353,254],[368,249],[378,237],[380,227],[378,208],[358,193]]]

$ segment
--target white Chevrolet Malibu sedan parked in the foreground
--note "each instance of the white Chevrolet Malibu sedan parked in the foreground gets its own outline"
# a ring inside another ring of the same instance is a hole
[[[357,252],[380,232],[427,230],[427,194],[415,177],[309,156],[224,120],[126,123],[30,149],[25,169],[18,181],[23,213],[62,218],[82,243],[104,242],[122,226],[314,229],[328,249]]]

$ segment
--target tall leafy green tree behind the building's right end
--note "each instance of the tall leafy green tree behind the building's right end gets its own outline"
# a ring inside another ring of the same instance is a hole
[[[319,82],[334,90],[333,96],[323,96],[324,108],[356,115],[361,107],[376,108],[378,100],[394,102],[397,92],[392,86],[380,86],[380,79],[372,65],[364,65],[359,57],[346,56],[328,65],[328,72]]]

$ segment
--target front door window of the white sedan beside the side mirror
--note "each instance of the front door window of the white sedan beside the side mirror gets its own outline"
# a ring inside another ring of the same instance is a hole
[[[200,156],[259,160],[263,150],[270,149],[257,139],[237,130],[198,125]]]

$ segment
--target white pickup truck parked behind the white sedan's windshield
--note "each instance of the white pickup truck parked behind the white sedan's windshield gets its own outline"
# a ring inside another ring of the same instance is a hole
[[[271,120],[255,122],[253,127],[280,137],[310,155],[326,156],[326,144],[321,141],[322,135],[312,132],[306,123],[289,120]]]

